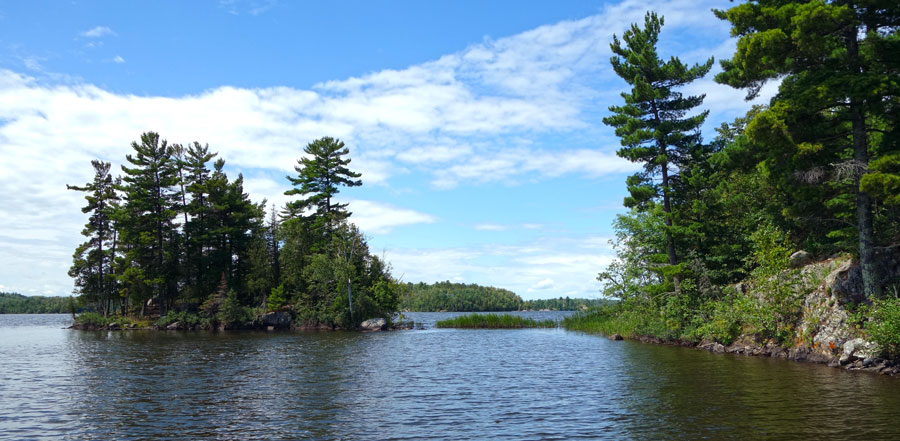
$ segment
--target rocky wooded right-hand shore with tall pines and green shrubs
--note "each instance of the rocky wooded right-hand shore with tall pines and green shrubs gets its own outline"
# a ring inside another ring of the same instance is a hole
[[[566,326],[877,367],[900,355],[900,3],[714,14],[737,38],[714,80],[778,92],[706,141],[704,95],[682,90],[714,60],[659,55],[653,13],[613,37],[630,89],[604,122],[643,170],[598,277],[619,302]]]

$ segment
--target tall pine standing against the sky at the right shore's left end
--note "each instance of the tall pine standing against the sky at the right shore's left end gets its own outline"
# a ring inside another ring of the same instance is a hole
[[[648,12],[644,28],[632,24],[622,41],[613,36],[613,70],[631,85],[623,92],[625,104],[610,106],[612,116],[603,119],[615,127],[623,148],[617,154],[632,162],[644,164],[644,171],[628,179],[631,197],[626,205],[641,206],[662,194],[666,224],[666,255],[668,264],[678,265],[672,219],[672,169],[685,165],[691,149],[700,143],[700,126],[709,111],[688,116],[687,113],[703,102],[705,95],[683,96],[676,89],[709,72],[713,59],[688,67],[672,57],[660,59],[656,52],[663,18]],[[623,46],[624,41],[624,46]],[[660,177],[659,185],[655,183]],[[678,278],[674,278],[678,289]]]

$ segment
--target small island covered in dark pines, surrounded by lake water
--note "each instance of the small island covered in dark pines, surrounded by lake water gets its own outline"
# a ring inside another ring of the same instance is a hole
[[[340,140],[309,143],[287,177],[296,199],[268,212],[208,146],[147,132],[131,148],[121,176],[96,160],[93,180],[69,187],[89,216],[69,274],[97,311],[77,326],[355,329],[396,313],[390,266],[335,200],[362,185]]]

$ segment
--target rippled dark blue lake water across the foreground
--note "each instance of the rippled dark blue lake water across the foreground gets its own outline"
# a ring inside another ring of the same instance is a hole
[[[0,315],[0,439],[900,439],[898,378],[410,315],[427,329],[86,332]]]

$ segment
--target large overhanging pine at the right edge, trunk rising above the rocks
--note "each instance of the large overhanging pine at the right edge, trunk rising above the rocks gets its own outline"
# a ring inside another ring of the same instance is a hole
[[[716,81],[748,90],[749,98],[783,78],[776,105],[754,122],[757,133],[768,135],[763,141],[778,147],[773,162],[799,157],[805,163],[795,171],[851,180],[844,194],[855,211],[865,291],[878,295],[876,212],[860,181],[870,159],[898,150],[891,114],[900,96],[900,3],[751,0],[715,13],[739,37]]]

